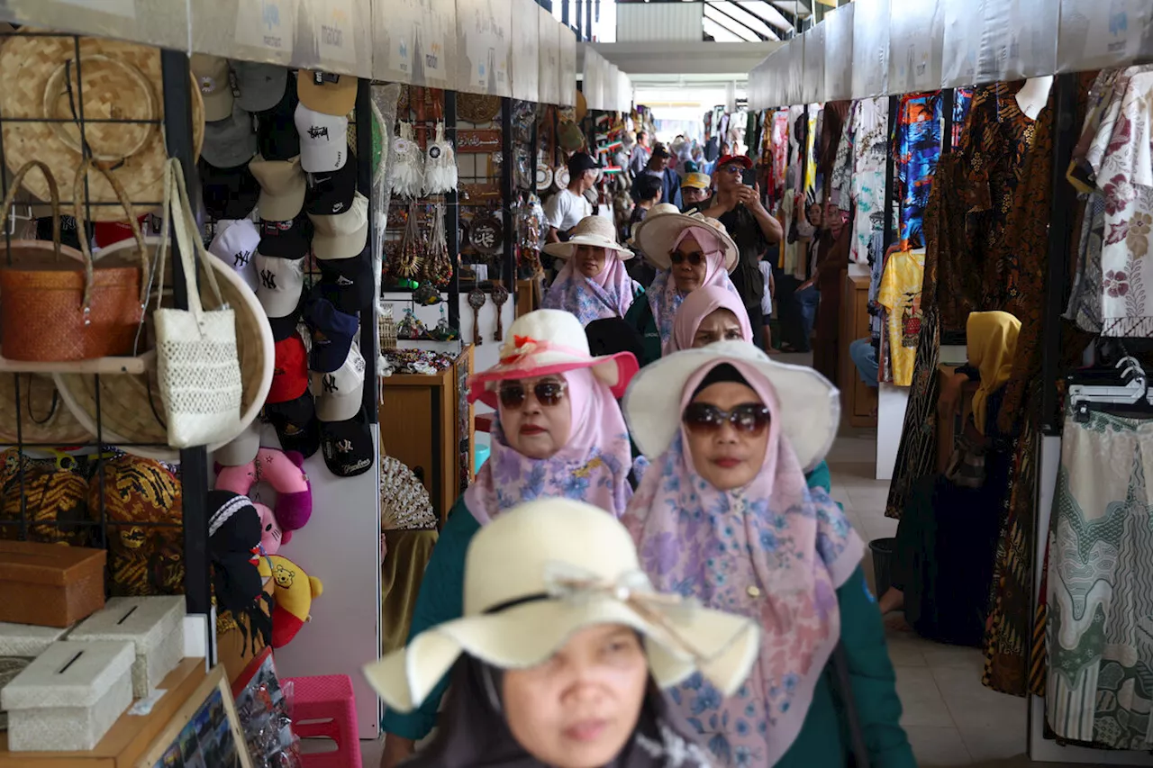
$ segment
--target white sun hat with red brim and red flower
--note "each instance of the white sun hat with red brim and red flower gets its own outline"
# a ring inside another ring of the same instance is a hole
[[[590,368],[612,390],[612,397],[619,399],[638,364],[628,352],[594,357],[588,351],[585,326],[575,315],[563,309],[537,309],[513,321],[500,347],[500,361],[468,379],[468,400],[496,408],[498,382],[578,368]]]

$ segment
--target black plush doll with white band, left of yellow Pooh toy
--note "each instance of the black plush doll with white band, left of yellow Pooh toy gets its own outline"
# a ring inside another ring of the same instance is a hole
[[[272,640],[272,600],[264,592],[257,570],[261,551],[261,515],[247,496],[212,490],[208,494],[209,551],[217,610],[229,611],[240,627],[244,647],[255,653]]]

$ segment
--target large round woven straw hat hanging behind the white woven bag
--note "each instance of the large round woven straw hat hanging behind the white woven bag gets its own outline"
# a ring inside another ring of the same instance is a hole
[[[145,243],[150,251],[149,261],[155,263],[156,248],[160,239],[145,238]],[[135,247],[134,241],[126,240],[105,248],[97,258],[108,256],[121,248]],[[259,414],[272,386],[274,347],[269,318],[253,289],[220,259],[210,258],[208,263],[216,270],[224,302],[235,313],[236,352],[243,379],[240,419],[234,423],[231,435],[208,446],[209,451],[214,451],[235,439]],[[166,271],[171,266],[172,261],[168,259]],[[171,272],[165,276],[164,285],[172,286]],[[220,302],[217,301],[208,280],[201,280],[201,303],[205,311],[220,308]],[[163,306],[173,306],[171,289],[166,289]],[[150,308],[155,307],[153,295]],[[68,409],[83,427],[96,435],[96,377],[88,374],[54,374],[53,379]],[[180,452],[176,449],[165,447],[168,432],[163,421],[164,404],[160,400],[160,385],[155,364],[150,366],[145,374],[100,376],[99,382],[101,443],[116,445],[128,453],[148,459],[159,461],[179,459]],[[159,445],[138,446],[127,445],[128,443]]]

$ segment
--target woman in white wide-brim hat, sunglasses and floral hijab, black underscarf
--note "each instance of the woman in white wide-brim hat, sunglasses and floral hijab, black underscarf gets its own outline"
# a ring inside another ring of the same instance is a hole
[[[625,394],[653,460],[623,518],[642,567],[657,589],[762,627],[734,695],[700,677],[672,692],[717,766],[915,766],[864,544],[805,481],[836,436],[837,398],[745,341],[665,356]]]

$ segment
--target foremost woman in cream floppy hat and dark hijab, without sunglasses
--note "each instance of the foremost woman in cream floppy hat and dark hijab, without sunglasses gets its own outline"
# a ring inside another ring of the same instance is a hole
[[[452,670],[413,768],[707,768],[660,688],[699,671],[731,693],[759,648],[754,622],[656,593],[620,524],[568,499],[523,504],[476,534],[464,603],[364,670],[390,710]]]

